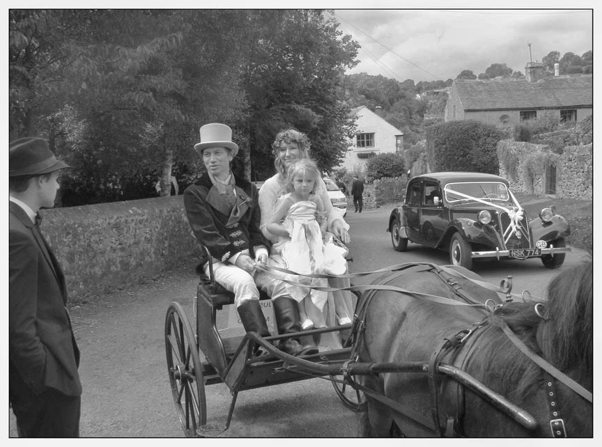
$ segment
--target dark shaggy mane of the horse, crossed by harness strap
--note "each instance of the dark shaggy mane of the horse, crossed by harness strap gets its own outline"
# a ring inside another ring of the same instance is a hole
[[[576,379],[584,386],[592,383],[593,372],[593,268],[592,262],[569,267],[550,281],[548,301],[509,302],[488,316],[479,345],[479,356],[490,365],[488,375],[495,379],[498,392],[520,398],[537,391],[543,379],[541,368],[526,355],[517,354],[514,344],[502,335],[501,322],[535,354],[562,371],[577,371]],[[540,315],[535,304],[541,302]],[[543,317],[543,319],[542,319]],[[539,325],[545,322],[540,338]],[[546,343],[539,345],[538,340]],[[542,352],[543,350],[543,352]],[[591,388],[591,386],[590,386]]]

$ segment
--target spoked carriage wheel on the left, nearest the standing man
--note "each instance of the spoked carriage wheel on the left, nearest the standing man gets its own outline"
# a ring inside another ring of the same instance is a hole
[[[182,306],[171,303],[165,316],[167,373],[173,401],[187,437],[207,423],[205,383],[196,336]]]

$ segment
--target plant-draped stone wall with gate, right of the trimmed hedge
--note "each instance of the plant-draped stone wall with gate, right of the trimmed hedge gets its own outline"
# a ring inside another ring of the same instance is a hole
[[[512,191],[546,195],[550,165],[556,168],[557,198],[593,197],[593,145],[566,146],[562,154],[549,146],[504,140],[498,144],[500,176],[507,179]],[[504,154],[500,156],[500,148]],[[504,160],[505,158],[505,160]]]

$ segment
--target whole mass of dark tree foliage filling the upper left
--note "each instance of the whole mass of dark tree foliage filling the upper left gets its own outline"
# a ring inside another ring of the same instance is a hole
[[[45,136],[77,167],[71,205],[135,179],[169,194],[172,168],[193,181],[205,123],[233,128],[247,178],[273,173],[282,127],[309,134],[323,169],[353,135],[341,79],[357,43],[321,11],[10,10],[9,54],[10,138]]]

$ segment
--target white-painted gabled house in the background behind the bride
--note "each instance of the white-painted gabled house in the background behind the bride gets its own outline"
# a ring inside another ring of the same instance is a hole
[[[362,106],[353,109],[350,114],[357,116],[357,133],[349,142],[341,167],[348,171],[355,167],[364,169],[372,155],[403,152],[403,132],[383,120],[378,113]]]

